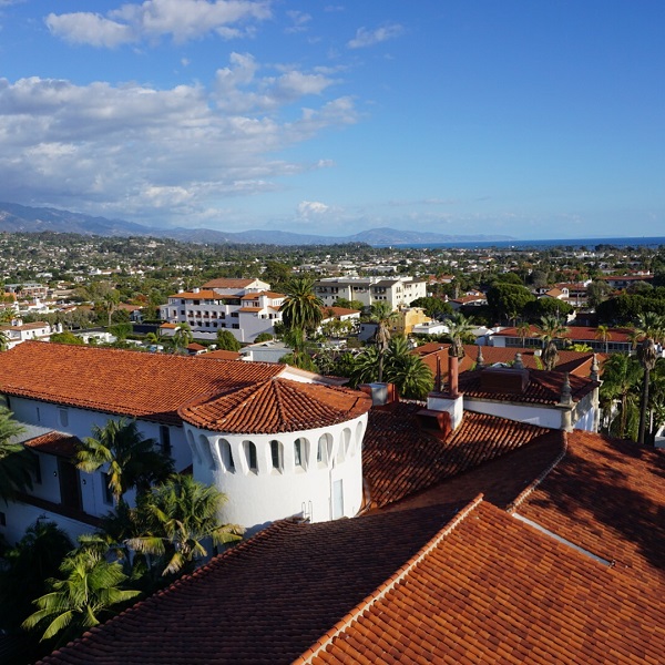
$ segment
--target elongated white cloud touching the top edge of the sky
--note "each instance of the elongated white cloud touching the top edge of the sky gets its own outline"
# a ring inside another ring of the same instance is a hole
[[[253,22],[270,18],[268,0],[146,0],[126,3],[105,16],[50,13],[45,23],[57,37],[98,48],[171,35],[183,43],[215,32],[225,39],[252,34]]]

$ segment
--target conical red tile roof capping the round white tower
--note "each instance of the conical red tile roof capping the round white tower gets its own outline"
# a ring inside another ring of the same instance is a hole
[[[270,378],[204,396],[178,410],[183,420],[219,432],[272,434],[328,427],[367,413],[371,398],[349,388],[334,388]]]

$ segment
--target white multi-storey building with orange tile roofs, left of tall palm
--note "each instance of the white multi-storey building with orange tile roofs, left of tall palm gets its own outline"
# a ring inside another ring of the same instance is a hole
[[[213,279],[191,291],[168,296],[160,307],[167,324],[186,323],[198,339],[215,339],[219,330],[229,330],[238,341],[250,342],[262,332],[274,334],[282,320],[286,296],[269,290],[259,279]]]

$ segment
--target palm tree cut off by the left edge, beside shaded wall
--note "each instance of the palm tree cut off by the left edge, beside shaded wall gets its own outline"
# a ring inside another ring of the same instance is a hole
[[[12,420],[7,407],[0,407],[0,499],[7,503],[17,492],[32,488],[32,473],[37,470],[37,457],[17,438],[23,427]]]

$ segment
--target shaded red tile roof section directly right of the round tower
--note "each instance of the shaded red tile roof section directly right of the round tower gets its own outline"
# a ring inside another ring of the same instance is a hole
[[[420,409],[401,402],[390,411],[369,413],[362,466],[371,500],[378,507],[400,501],[551,431],[467,411],[461,426],[442,441],[420,429],[416,418]]]

